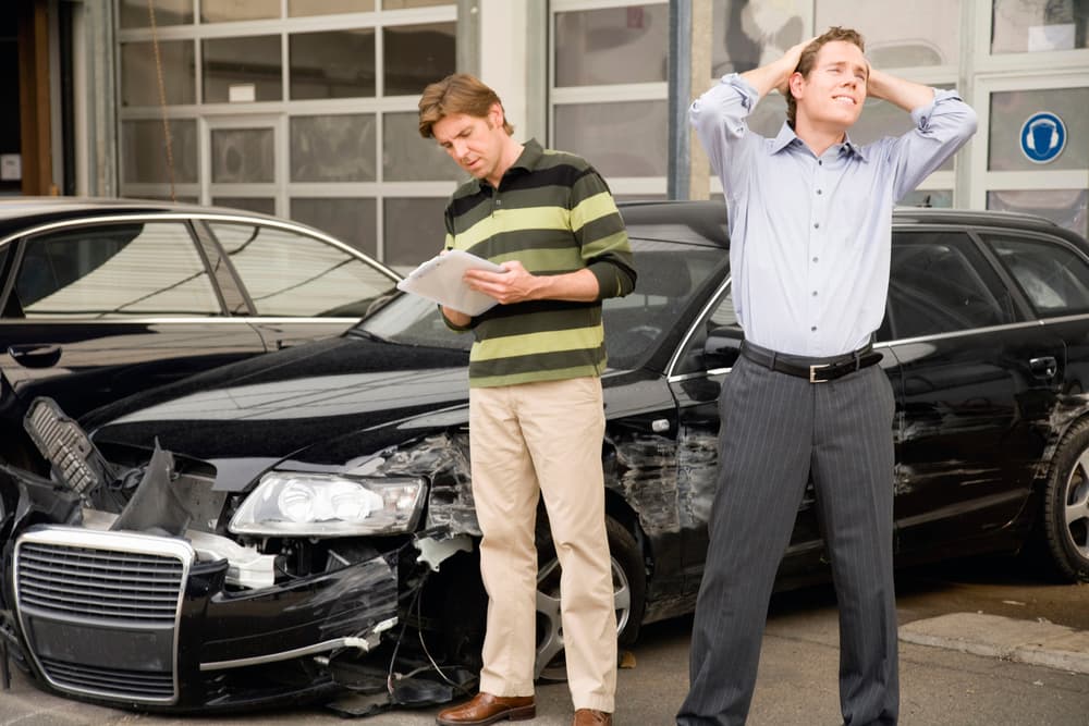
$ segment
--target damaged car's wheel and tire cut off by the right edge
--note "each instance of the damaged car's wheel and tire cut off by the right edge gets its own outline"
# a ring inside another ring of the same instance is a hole
[[[1060,579],[1089,580],[1089,419],[1066,433],[1052,459],[1039,540]]]

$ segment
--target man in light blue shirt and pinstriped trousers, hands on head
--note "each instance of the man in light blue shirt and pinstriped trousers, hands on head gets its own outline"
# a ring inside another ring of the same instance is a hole
[[[787,98],[775,138],[746,118]],[[867,96],[911,114],[898,138],[854,144]],[[677,724],[743,724],[775,571],[810,479],[840,607],[845,724],[900,704],[892,574],[894,399],[870,348],[884,316],[893,205],[976,131],[955,91],[872,69],[833,27],[692,104],[722,180],[733,299],[745,330],[723,384],[718,492]]]

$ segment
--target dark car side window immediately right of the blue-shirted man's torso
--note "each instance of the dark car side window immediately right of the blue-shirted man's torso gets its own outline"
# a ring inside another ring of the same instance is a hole
[[[879,341],[1000,325],[1013,321],[1013,309],[1008,291],[966,233],[893,236]]]

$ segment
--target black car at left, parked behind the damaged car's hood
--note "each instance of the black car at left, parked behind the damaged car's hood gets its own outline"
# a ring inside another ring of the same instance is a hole
[[[133,199],[0,200],[0,462],[37,396],[70,416],[351,328],[399,275],[318,230]]]

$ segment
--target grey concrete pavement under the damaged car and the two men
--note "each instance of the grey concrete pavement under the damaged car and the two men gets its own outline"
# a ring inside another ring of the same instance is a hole
[[[902,618],[905,613],[902,611]],[[906,619],[906,618],[904,618]],[[687,687],[690,618],[645,628],[632,649],[634,667],[620,672],[615,723],[668,725]],[[918,726],[1089,726],[1089,675],[1080,661],[1011,657],[1017,649],[1059,653],[1089,650],[1084,631],[1057,631],[1016,618],[977,613],[921,618],[901,627],[902,724]],[[1055,626],[1061,627],[1061,626]],[[1056,636],[1052,640],[1049,636]],[[926,637],[929,644],[918,641]],[[834,604],[773,608],[749,723],[754,726],[839,724],[837,620]],[[1039,641],[1039,642],[1038,642]],[[1044,647],[1054,643],[1055,647]],[[990,648],[983,653],[983,648]],[[1027,652],[1027,650],[1026,650]],[[393,711],[356,723],[366,726],[430,726],[437,707]],[[538,690],[541,726],[567,726],[566,686]],[[178,718],[101,709],[44,694],[22,676],[0,692],[0,726],[114,724],[220,726],[235,724],[331,725],[343,719],[319,707],[234,717]]]

